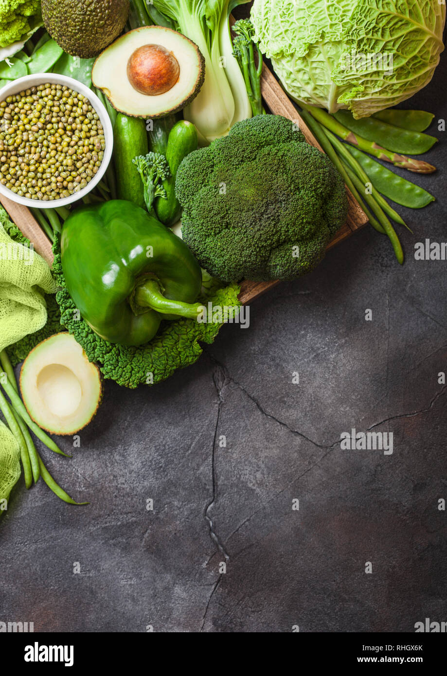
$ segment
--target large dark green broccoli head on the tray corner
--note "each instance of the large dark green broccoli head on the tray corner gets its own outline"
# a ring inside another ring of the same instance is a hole
[[[279,115],[237,122],[177,172],[182,235],[223,283],[310,272],[344,224],[343,180],[298,125]]]

